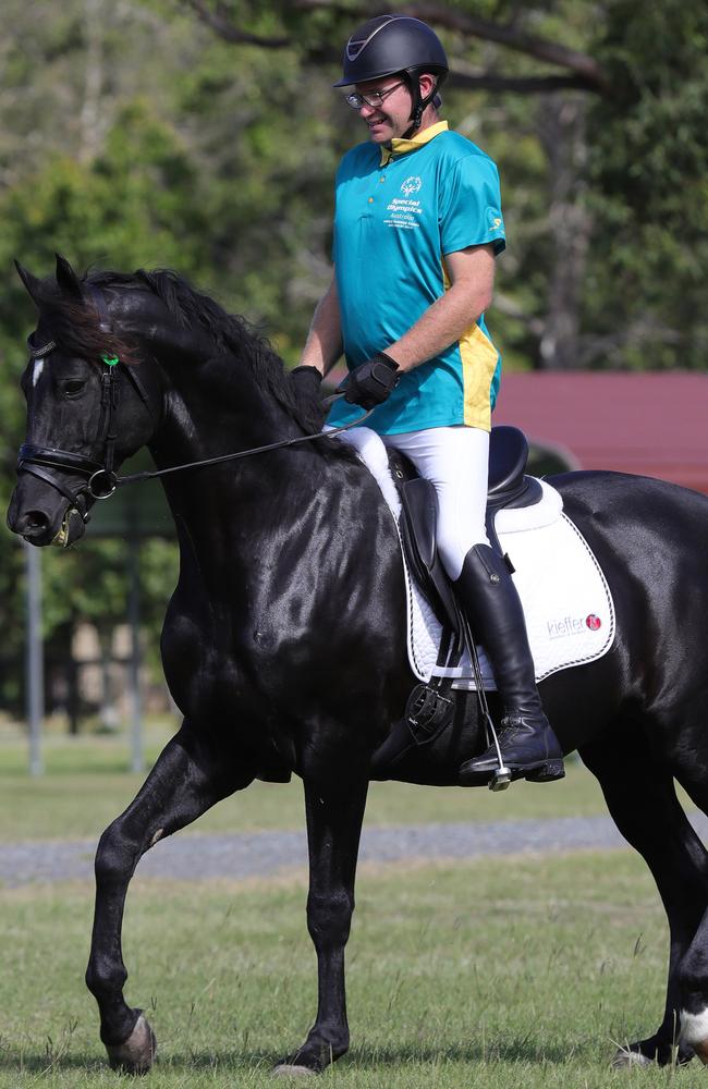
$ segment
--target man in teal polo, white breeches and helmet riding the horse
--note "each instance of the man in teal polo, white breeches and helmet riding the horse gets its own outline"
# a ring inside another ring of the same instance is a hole
[[[462,781],[490,776],[499,756],[521,774],[557,761],[561,778],[518,595],[485,526],[501,370],[484,317],[505,246],[499,176],[484,151],[440,120],[447,74],[438,37],[417,19],[380,15],[346,44],[334,86],[354,88],[346,102],[369,139],[337,172],[334,274],[301,367],[318,380],[343,351],[349,404],[340,400],[328,424],[353,420],[353,406],[374,408],[366,426],[435,486],[438,550],[504,708],[500,752],[491,745],[467,760]],[[356,445],[356,429],[346,439]]]

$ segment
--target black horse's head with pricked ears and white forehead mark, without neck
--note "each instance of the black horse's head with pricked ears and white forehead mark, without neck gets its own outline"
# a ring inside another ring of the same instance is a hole
[[[39,317],[22,377],[27,429],[8,525],[33,544],[66,547],[159,421],[160,371],[133,331],[141,304],[149,298],[156,309],[155,299],[105,290],[91,282],[100,277],[80,280],[59,255],[47,280],[20,265],[17,271]],[[158,320],[147,325],[160,328]]]

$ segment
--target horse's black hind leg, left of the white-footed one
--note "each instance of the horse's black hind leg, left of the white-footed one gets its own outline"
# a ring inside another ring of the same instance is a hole
[[[664,1014],[657,1031],[621,1048],[614,1066],[687,1062],[691,1041],[680,1038],[681,966],[701,925],[708,896],[708,855],[683,811],[671,770],[659,766],[633,730],[581,749],[599,780],[618,829],[651,870],[670,930]]]

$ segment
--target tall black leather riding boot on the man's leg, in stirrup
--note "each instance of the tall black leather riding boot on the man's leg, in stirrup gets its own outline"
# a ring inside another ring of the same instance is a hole
[[[475,544],[454,584],[457,600],[484,645],[503,703],[499,747],[512,772],[537,782],[562,779],[563,752],[541,706],[526,622],[506,564],[488,544]],[[493,745],[460,769],[463,783],[484,781],[499,767]]]

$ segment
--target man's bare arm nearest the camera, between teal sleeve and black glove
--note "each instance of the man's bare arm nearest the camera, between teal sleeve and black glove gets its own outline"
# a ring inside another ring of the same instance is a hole
[[[475,323],[491,304],[495,284],[492,245],[468,246],[444,258],[451,286],[436,299],[386,355],[400,370],[412,370],[426,359],[444,352]]]

